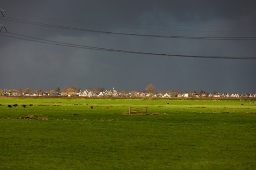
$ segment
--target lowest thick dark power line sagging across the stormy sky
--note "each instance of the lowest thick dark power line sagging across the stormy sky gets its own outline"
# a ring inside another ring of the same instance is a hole
[[[141,55],[158,55],[158,56],[168,56],[168,57],[192,57],[192,58],[212,58],[212,59],[256,59],[256,57],[232,57],[232,56],[204,56],[204,55],[175,55],[175,54],[166,54],[166,53],[149,53],[149,52],[140,52],[140,51],[126,51],[120,49],[110,49],[110,48],[101,48],[101,47],[93,47],[93,46],[85,46],[85,45],[77,45],[72,43],[64,43],[64,42],[56,42],[51,40],[45,40],[41,38],[35,38],[32,36],[25,36],[21,34],[15,33],[0,33],[0,36],[5,36],[9,38],[16,38],[20,40],[27,40],[32,42],[40,42],[46,44],[54,44],[61,45],[67,47],[76,47],[83,49],[93,49],[93,50],[101,50],[101,51],[113,51],[113,52],[121,52],[121,53],[133,53],[133,54],[141,54]]]

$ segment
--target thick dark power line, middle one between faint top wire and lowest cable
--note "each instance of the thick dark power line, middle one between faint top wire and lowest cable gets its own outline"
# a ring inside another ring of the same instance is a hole
[[[9,19],[6,19],[9,18]],[[20,20],[16,18],[4,17],[0,18],[1,20],[7,20],[11,22],[20,22],[24,24],[32,24],[37,26],[46,26],[51,28],[61,28],[61,29],[68,29],[68,30],[77,30],[77,31],[84,31],[84,32],[97,32],[97,33],[105,33],[105,34],[119,34],[119,35],[127,35],[127,36],[143,36],[143,37],[156,37],[156,38],[179,38],[179,39],[197,39],[197,40],[252,40],[255,41],[256,37],[202,37],[202,36],[163,36],[163,35],[148,35],[148,34],[130,34],[130,33],[119,33],[119,32],[106,32],[106,31],[99,31],[99,30],[88,30],[82,28],[73,28],[67,26],[57,26],[52,24],[44,24],[39,22],[32,22],[27,20]],[[10,20],[11,19],[11,20]]]

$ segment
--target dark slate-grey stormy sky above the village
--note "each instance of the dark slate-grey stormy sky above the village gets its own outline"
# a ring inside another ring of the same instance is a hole
[[[0,0],[0,8],[6,10],[5,17],[106,32],[256,37],[256,2],[252,0]],[[255,40],[105,34],[1,18],[0,24],[8,32],[78,45],[175,55],[256,57]],[[0,36],[0,77],[0,89],[77,86],[143,91],[152,83],[162,91],[256,93],[256,60],[118,53]]]

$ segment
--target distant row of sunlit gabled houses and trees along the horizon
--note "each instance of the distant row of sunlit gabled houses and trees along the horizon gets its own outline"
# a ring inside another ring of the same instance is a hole
[[[159,91],[155,90],[153,84],[149,84],[143,91],[117,91],[105,89],[104,87],[96,87],[95,89],[89,87],[82,90],[81,87],[67,87],[63,89],[57,87],[55,90],[32,90],[23,89],[0,89],[2,96],[67,96],[67,97],[256,97],[256,93],[223,93],[218,91],[206,92],[200,91]]]

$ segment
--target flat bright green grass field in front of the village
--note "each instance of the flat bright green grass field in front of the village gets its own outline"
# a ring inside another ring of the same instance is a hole
[[[256,169],[252,99],[2,97],[0,104],[0,169]],[[129,106],[147,106],[149,115],[127,115]],[[47,120],[19,119],[27,115]]]

